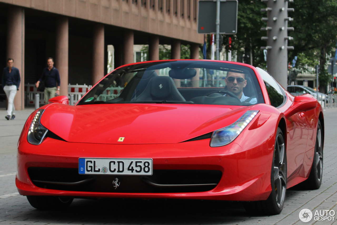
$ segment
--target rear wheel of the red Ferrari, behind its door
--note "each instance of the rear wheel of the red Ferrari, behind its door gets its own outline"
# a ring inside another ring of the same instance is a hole
[[[316,133],[316,144],[315,144],[315,153],[312,161],[311,171],[307,180],[303,182],[303,186],[310,190],[319,189],[322,183],[323,177],[323,130],[318,121],[317,124],[317,133]]]

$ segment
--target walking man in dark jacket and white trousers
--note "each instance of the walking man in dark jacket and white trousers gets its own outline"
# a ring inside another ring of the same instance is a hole
[[[2,71],[2,87],[8,99],[7,116],[5,116],[7,120],[13,120],[15,118],[15,107],[13,102],[17,90],[19,90],[21,81],[19,69],[13,67],[13,63],[14,59],[7,59],[7,67]],[[10,118],[10,116],[12,117]]]

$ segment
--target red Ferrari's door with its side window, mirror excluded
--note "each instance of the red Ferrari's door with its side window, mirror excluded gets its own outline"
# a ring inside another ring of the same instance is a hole
[[[287,95],[283,88],[265,70],[258,68],[267,88],[271,105],[284,113],[288,109]],[[295,87],[296,89],[297,87]],[[299,90],[299,89],[297,89]],[[303,93],[303,89],[302,89]],[[285,104],[287,103],[287,104]],[[286,153],[287,153],[287,177],[292,178],[302,167],[308,140],[308,126],[304,113],[296,113],[286,120]],[[294,176],[295,177],[295,176]]]

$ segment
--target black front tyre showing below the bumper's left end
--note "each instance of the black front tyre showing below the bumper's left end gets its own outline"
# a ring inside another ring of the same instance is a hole
[[[66,209],[72,202],[70,197],[54,196],[27,196],[31,206],[40,210],[62,210]]]

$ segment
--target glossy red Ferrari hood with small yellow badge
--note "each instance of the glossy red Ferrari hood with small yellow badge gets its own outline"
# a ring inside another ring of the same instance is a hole
[[[54,103],[41,124],[68,142],[179,143],[235,122],[248,107],[190,104]],[[123,142],[118,142],[124,137]]]

